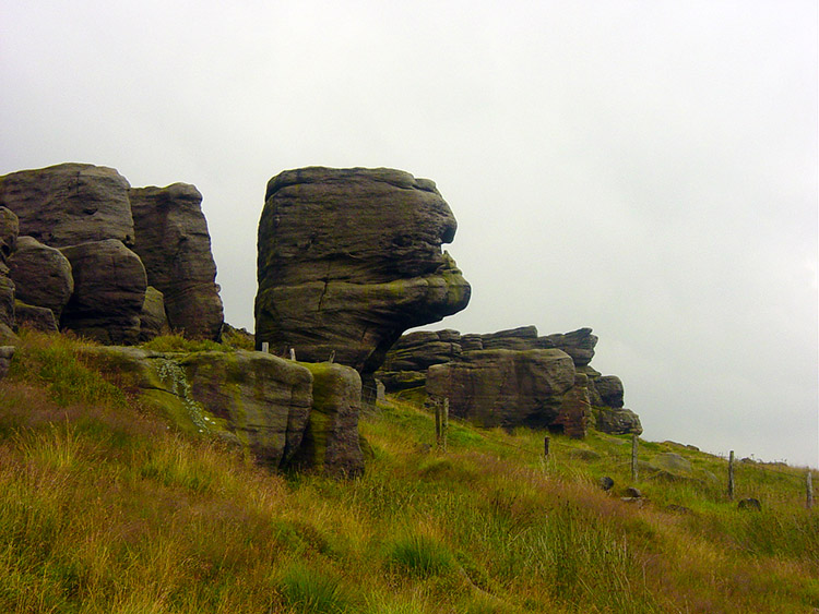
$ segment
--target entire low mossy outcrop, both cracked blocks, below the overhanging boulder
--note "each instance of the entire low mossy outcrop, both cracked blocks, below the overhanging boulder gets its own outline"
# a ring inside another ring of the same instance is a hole
[[[84,352],[179,428],[241,445],[261,465],[335,475],[364,471],[361,387],[353,369],[247,350],[161,353],[88,347]]]

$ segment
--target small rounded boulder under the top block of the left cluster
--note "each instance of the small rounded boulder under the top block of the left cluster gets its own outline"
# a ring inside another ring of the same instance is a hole
[[[17,239],[17,248],[9,258],[9,276],[19,300],[50,309],[58,320],[74,291],[69,260],[33,237]]]

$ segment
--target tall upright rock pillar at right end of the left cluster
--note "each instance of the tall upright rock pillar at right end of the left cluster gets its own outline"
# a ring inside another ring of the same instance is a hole
[[[174,183],[132,189],[129,196],[133,250],[149,284],[164,294],[170,327],[189,338],[217,340],[224,316],[202,194],[193,185]]]

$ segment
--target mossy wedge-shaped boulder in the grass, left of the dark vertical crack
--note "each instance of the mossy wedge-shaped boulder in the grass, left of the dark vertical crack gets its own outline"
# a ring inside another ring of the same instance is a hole
[[[140,390],[177,426],[238,443],[256,460],[281,468],[301,445],[312,407],[312,375],[268,353],[161,353],[88,347],[88,360]],[[357,435],[357,433],[356,433]]]

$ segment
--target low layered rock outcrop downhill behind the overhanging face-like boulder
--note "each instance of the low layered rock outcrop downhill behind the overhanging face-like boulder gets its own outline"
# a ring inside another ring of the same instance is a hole
[[[641,433],[624,409],[622,383],[591,365],[591,328],[541,337],[534,326],[487,335],[414,332],[388,352],[377,377],[388,392],[426,386],[450,410],[482,426],[547,428],[582,437],[594,423],[607,433]],[[592,420],[593,419],[593,420]]]

